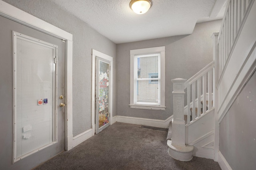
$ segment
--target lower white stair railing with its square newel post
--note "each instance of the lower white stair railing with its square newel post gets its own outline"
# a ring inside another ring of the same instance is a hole
[[[186,79],[176,78],[173,82],[173,120],[172,120],[172,144],[185,146],[185,121],[184,121],[184,96],[187,90],[187,123],[192,123],[202,114],[207,113],[214,107],[214,61],[205,66],[202,70]],[[190,90],[192,88],[192,90]],[[192,121],[190,121],[190,97],[192,92]],[[208,97],[206,98],[208,93]],[[196,96],[198,111],[196,114]],[[202,113],[201,113],[202,98]],[[208,107],[206,106],[206,101]]]

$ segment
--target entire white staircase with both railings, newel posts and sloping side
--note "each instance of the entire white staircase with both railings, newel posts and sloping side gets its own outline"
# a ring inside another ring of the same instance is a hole
[[[167,145],[173,158],[199,156],[226,166],[218,156],[219,125],[256,69],[255,9],[255,0],[227,0],[220,33],[212,36],[213,61],[189,80],[172,80],[174,116]]]

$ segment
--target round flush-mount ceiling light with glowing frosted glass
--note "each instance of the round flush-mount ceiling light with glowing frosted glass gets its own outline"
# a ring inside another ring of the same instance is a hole
[[[145,14],[152,6],[151,0],[132,0],[130,2],[130,8],[136,14]]]

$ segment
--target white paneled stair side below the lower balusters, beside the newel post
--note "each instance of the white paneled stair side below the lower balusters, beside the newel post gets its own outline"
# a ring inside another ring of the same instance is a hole
[[[193,156],[214,159],[214,108],[186,125],[186,145],[194,146]]]

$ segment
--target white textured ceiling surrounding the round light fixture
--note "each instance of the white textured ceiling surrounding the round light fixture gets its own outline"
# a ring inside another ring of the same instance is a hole
[[[130,0],[51,0],[114,43],[191,34],[198,22],[218,20],[226,0],[152,0],[135,14]],[[210,17],[211,16],[211,17]]]

